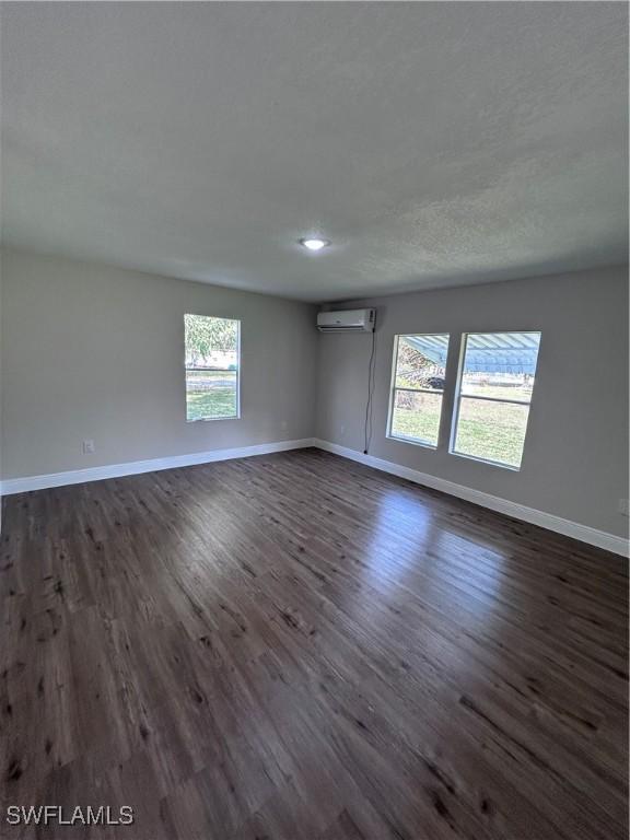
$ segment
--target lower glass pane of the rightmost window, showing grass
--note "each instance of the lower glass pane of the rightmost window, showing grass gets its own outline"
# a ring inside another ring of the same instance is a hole
[[[521,466],[529,406],[462,397],[454,452]]]

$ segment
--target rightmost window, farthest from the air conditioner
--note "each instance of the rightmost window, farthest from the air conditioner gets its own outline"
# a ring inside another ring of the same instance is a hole
[[[451,452],[518,469],[540,332],[464,336]]]

